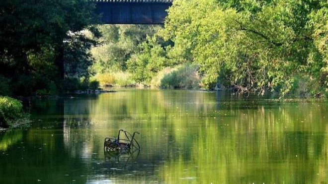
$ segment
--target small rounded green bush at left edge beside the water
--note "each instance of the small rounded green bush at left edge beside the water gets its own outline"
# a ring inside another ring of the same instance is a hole
[[[22,113],[22,107],[22,103],[16,99],[0,97],[0,111],[5,119],[14,120],[18,118]]]

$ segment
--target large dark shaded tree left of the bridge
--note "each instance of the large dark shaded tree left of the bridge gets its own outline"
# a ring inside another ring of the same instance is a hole
[[[64,59],[69,58],[65,54],[71,54],[71,51],[67,50],[67,41],[72,40],[70,33],[80,35],[79,44],[86,48],[93,42],[82,38],[80,34],[82,30],[89,30],[96,37],[99,36],[97,29],[92,26],[97,21],[94,7],[94,4],[87,0],[0,1],[1,74],[12,78],[12,82],[18,85],[17,89],[25,83],[19,81],[21,76],[28,76],[30,82],[38,83],[35,81],[36,78],[46,77],[47,80],[59,83],[58,79],[63,79],[65,73]],[[86,50],[79,54],[83,52]],[[51,65],[51,67],[44,72],[36,71],[42,65]],[[49,72],[57,72],[58,75],[51,76]],[[35,76],[33,73],[41,76]],[[38,86],[33,87],[38,88]],[[29,90],[19,91],[30,93]]]

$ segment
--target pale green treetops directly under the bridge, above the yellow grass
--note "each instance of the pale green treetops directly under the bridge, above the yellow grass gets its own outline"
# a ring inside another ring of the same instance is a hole
[[[152,36],[160,26],[149,25],[101,25],[100,45],[92,48],[95,63],[91,67],[94,73],[125,71],[127,61],[139,53],[139,44]]]

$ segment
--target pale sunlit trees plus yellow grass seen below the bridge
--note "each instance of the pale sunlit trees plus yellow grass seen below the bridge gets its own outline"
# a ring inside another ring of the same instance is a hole
[[[131,86],[136,81],[127,72],[128,61],[142,51],[141,44],[161,27],[156,25],[101,25],[100,44],[91,49],[95,58],[90,72],[101,85]]]

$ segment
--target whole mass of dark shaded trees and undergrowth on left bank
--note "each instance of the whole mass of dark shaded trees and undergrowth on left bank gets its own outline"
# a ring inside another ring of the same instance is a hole
[[[93,9],[87,0],[1,0],[0,94],[50,94],[77,85],[66,77],[87,85],[89,49],[99,36]]]

